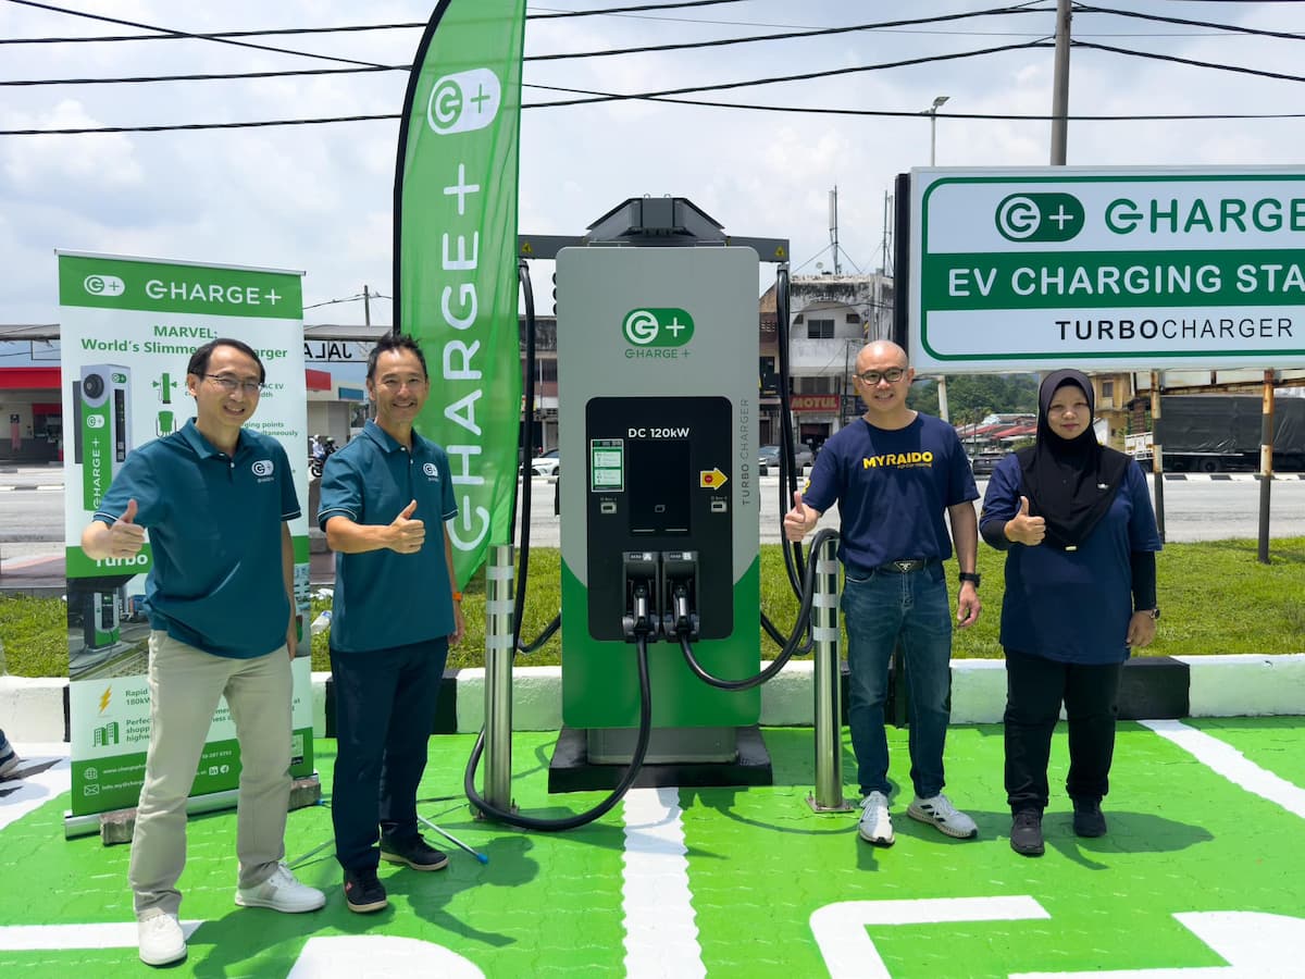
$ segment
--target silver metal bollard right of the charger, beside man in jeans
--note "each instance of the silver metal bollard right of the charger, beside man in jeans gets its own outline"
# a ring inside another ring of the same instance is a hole
[[[848,812],[843,799],[843,704],[838,660],[838,540],[826,539],[816,561],[812,638],[816,660],[816,791],[806,804],[816,812]]]

